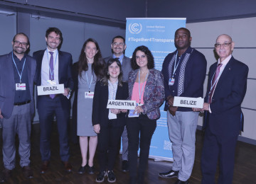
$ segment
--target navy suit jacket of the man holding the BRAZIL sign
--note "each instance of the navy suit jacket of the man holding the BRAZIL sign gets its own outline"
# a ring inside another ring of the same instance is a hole
[[[36,86],[41,86],[41,68],[42,68],[42,61],[43,61],[43,54],[46,50],[38,50],[36,52],[33,52],[33,57],[36,59],[36,77],[35,77],[35,83]],[[68,52],[62,52],[58,51],[58,79],[59,84],[64,84],[64,88],[70,88],[73,90],[74,83],[72,79],[71,69],[72,69],[72,56]],[[63,95],[60,95],[62,103],[69,103],[70,100],[66,98]],[[37,96],[38,101],[38,96]],[[64,104],[63,104],[64,105]],[[38,103],[36,105],[38,107]]]

